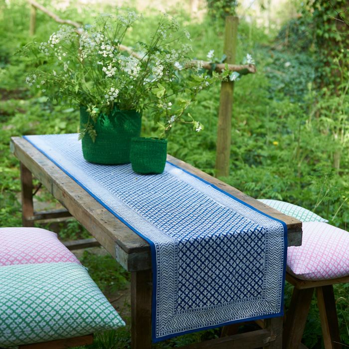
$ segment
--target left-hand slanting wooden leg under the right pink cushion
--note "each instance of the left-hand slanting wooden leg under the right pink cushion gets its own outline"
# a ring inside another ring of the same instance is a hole
[[[290,309],[286,315],[284,330],[284,349],[298,349],[307,322],[310,304],[314,294],[314,287],[293,290]]]

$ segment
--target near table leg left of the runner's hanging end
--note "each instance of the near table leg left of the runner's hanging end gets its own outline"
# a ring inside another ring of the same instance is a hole
[[[131,348],[152,348],[152,271],[131,273]]]

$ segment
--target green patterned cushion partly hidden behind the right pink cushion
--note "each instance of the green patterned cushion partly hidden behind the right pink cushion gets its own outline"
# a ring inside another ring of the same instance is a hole
[[[263,203],[277,209],[278,211],[287,214],[291,217],[295,217],[301,222],[328,222],[328,220],[318,216],[312,211],[301,206],[294,205],[293,203],[288,203],[279,200],[270,199],[258,199]]]

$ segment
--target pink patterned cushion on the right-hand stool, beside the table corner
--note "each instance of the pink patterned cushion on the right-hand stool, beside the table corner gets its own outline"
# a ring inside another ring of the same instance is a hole
[[[328,223],[303,223],[302,246],[287,250],[287,271],[302,280],[349,275],[349,232]]]

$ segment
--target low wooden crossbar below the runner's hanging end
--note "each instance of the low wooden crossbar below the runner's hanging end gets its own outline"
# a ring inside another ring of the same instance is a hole
[[[221,337],[215,340],[195,343],[180,347],[181,349],[254,349],[268,345],[270,332],[257,330],[234,336]],[[281,348],[281,347],[280,347]]]

